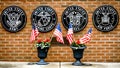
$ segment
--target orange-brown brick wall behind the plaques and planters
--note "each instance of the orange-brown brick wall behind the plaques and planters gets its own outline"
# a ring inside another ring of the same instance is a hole
[[[31,13],[40,5],[51,6],[58,15],[58,22],[62,27],[63,36],[67,30],[61,22],[61,15],[64,9],[70,5],[83,7],[88,13],[88,24],[83,31],[75,33],[75,39],[82,37],[89,27],[93,28],[91,42],[87,43],[84,57],[85,62],[120,62],[120,24],[111,32],[100,32],[92,23],[94,10],[104,4],[112,5],[116,8],[120,16],[119,0],[0,0],[0,13],[10,5],[20,6],[27,14],[27,24],[24,29],[17,33],[7,32],[0,25],[0,61],[38,61],[36,49],[32,49],[34,44],[29,43],[31,33]],[[120,20],[120,18],[119,18]],[[119,22],[120,23],[120,22]],[[53,30],[54,31],[54,30]],[[51,37],[53,31],[40,33],[39,38]],[[72,50],[68,44],[51,44],[46,61],[74,61]]]

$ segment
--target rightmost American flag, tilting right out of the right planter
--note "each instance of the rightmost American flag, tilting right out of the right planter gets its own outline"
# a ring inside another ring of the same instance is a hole
[[[85,34],[82,38],[79,39],[80,43],[84,44],[89,42],[91,39],[91,33],[92,33],[92,28],[88,30],[87,34]]]

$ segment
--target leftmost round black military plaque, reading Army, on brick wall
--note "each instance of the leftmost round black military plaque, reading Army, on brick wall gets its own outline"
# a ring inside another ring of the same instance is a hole
[[[2,26],[9,32],[18,32],[26,25],[26,13],[18,6],[9,6],[1,13]]]

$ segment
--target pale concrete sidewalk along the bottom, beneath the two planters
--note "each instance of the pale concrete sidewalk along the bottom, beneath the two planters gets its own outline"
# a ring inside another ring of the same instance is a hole
[[[72,62],[49,62],[48,65],[28,65],[28,63],[0,61],[0,68],[120,68],[120,63],[86,62],[92,66],[73,66]]]

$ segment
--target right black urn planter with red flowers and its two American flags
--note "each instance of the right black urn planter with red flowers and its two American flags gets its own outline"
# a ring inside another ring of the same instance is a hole
[[[71,23],[69,24],[69,29],[66,38],[69,44],[71,45],[70,47],[73,51],[73,56],[76,59],[76,61],[72,63],[72,65],[75,66],[85,65],[81,63],[80,59],[82,59],[84,49],[86,48],[84,44],[90,41],[91,32],[92,32],[92,28],[89,29],[87,34],[85,34],[82,38],[80,38],[77,42],[75,42],[75,39],[73,39],[74,37],[73,37],[72,24]]]

